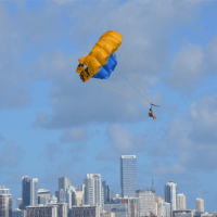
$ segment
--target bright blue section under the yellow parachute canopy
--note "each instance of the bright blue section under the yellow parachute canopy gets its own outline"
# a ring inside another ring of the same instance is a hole
[[[107,63],[103,65],[92,78],[107,79],[117,65],[116,55],[111,54]]]

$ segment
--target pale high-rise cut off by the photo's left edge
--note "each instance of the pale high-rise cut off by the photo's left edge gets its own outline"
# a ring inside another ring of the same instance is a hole
[[[11,217],[12,216],[12,195],[10,194],[10,189],[5,187],[0,187],[0,217]]]

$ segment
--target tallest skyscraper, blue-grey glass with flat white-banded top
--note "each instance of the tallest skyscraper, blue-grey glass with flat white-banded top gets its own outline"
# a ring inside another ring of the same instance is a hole
[[[136,197],[137,190],[137,156],[122,155],[120,157],[120,194],[122,197]]]

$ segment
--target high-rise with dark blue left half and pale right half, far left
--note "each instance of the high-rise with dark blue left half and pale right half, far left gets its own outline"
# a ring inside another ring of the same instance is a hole
[[[23,209],[26,206],[36,206],[38,204],[38,179],[31,179],[29,176],[22,178],[22,202]]]

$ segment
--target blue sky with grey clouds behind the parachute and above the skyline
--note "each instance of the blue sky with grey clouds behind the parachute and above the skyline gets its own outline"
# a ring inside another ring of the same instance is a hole
[[[77,186],[98,173],[119,192],[119,157],[136,154],[138,188],[164,177],[157,195],[174,180],[187,208],[202,197],[216,210],[216,12],[212,0],[1,1],[0,184],[14,205],[23,176],[54,193],[59,177]],[[150,99],[168,108],[154,108],[154,122],[149,105],[76,74],[111,29],[123,35],[118,64],[125,48]]]

